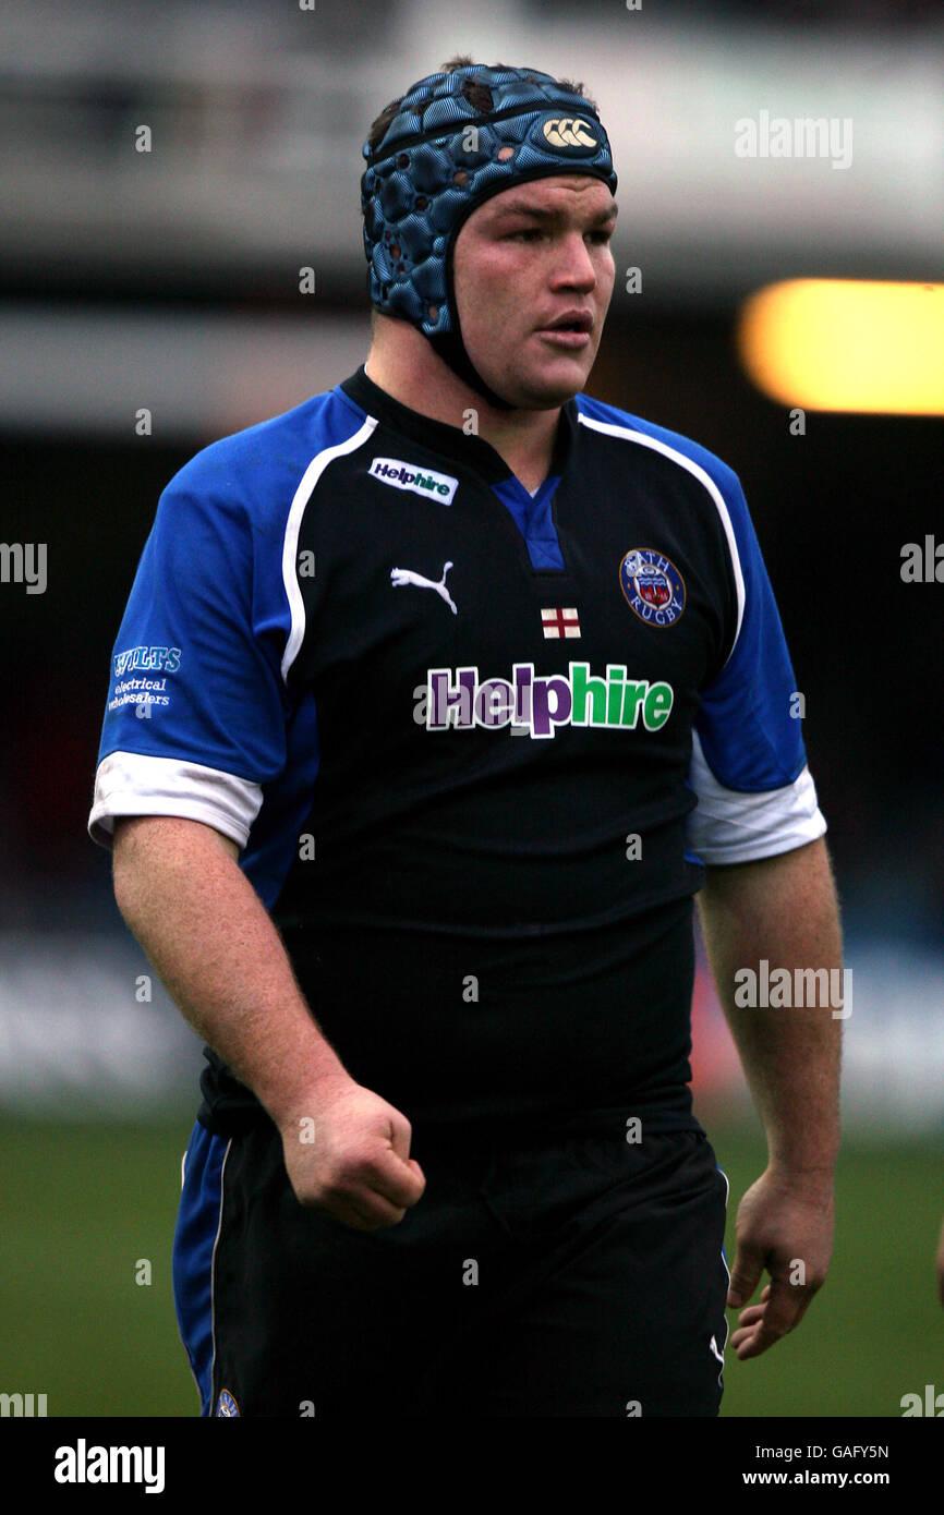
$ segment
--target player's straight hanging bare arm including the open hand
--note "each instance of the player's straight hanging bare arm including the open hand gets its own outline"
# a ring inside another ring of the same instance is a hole
[[[839,968],[839,918],[826,842],[820,838],[776,857],[709,868],[699,909],[770,1154],[765,1173],[738,1207],[729,1291],[729,1304],[744,1304],[764,1271],[770,1274],[761,1303],[741,1310],[730,1338],[738,1357],[756,1357],[800,1323],[826,1279],[839,1144],[841,1020],[829,1004],[738,1006],[735,973],[756,973],[764,957],[791,973]]]

